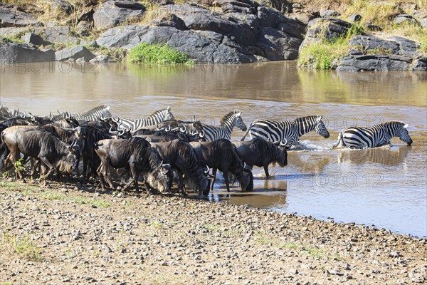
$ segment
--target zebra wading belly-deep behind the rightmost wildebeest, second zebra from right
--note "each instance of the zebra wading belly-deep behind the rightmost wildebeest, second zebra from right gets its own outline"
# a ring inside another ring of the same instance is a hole
[[[323,138],[329,138],[330,133],[322,121],[321,115],[312,115],[296,118],[293,121],[285,120],[278,122],[275,120],[254,120],[249,126],[248,132],[241,140],[245,140],[250,133],[251,138],[263,138],[273,142],[280,147],[290,148],[295,145],[300,137],[305,133],[315,130]]]

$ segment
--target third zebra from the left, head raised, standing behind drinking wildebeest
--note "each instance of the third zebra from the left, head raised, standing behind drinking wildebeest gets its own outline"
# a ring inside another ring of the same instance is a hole
[[[214,125],[205,125],[203,126],[203,132],[199,133],[200,138],[204,138],[206,142],[213,142],[214,140],[219,140],[224,138],[226,140],[231,140],[231,132],[235,125],[241,130],[246,131],[246,125],[241,118],[241,111],[234,110],[226,115],[219,121],[218,126]]]

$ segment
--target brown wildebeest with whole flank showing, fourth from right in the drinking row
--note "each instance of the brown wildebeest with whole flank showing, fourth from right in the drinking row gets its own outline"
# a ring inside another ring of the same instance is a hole
[[[163,164],[157,151],[143,138],[100,140],[95,145],[95,152],[100,157],[101,164],[97,169],[100,184],[104,189],[103,178],[107,180],[111,188],[114,188],[107,170],[108,165],[114,168],[128,168],[132,174],[132,180],[125,185],[123,190],[135,182],[138,188],[139,173],[142,173],[144,181],[160,192],[170,191],[170,165]]]

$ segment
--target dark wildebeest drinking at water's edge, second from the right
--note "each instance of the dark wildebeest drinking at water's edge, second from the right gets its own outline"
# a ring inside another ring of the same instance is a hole
[[[202,165],[212,168],[212,175],[216,176],[216,170],[223,172],[226,180],[227,192],[230,192],[230,180],[228,172],[237,177],[242,191],[253,190],[253,175],[251,169],[243,165],[236,149],[231,142],[226,139],[214,140],[213,142],[190,142],[196,150],[197,157]],[[214,189],[214,181],[211,190]]]

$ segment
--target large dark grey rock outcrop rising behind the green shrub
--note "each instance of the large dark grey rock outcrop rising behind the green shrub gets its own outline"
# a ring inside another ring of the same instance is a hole
[[[167,43],[197,62],[248,63],[295,59],[305,27],[254,1],[218,1],[220,14],[201,6],[164,5],[152,26],[110,28],[97,38],[105,47]],[[161,13],[162,14],[162,13]]]

